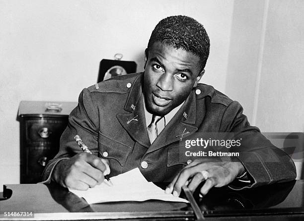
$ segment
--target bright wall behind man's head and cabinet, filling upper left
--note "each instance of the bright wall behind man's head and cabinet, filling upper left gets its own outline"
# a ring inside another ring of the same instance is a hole
[[[183,14],[205,25],[211,53],[202,81],[224,91],[233,1],[0,0],[0,186],[19,183],[19,102],[77,101],[116,53],[143,70],[156,23]]]

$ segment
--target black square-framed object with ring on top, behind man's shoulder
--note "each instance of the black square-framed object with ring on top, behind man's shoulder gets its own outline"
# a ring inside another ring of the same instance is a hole
[[[122,57],[122,54],[116,54],[114,55],[115,60],[102,59],[100,61],[97,83],[111,77],[136,72],[135,61],[121,60]]]

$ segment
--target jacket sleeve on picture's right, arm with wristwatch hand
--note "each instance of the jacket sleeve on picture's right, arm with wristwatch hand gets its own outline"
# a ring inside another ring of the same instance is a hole
[[[250,126],[242,112],[238,102],[230,103],[223,114],[220,130],[242,138],[241,146],[233,151],[239,152],[237,158],[253,178],[245,188],[294,180],[297,172],[293,160],[266,139],[259,128]]]

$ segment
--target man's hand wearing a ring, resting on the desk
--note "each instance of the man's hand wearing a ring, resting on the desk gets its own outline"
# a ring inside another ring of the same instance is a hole
[[[204,196],[212,187],[228,185],[244,171],[245,168],[240,162],[201,162],[195,160],[177,174],[165,192],[179,196],[183,185],[188,186],[193,192],[201,182],[206,180],[200,190]]]

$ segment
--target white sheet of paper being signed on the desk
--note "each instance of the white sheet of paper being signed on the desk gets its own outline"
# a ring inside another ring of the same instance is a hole
[[[111,177],[111,182],[113,186],[103,182],[86,191],[70,191],[83,197],[88,204],[152,199],[188,203],[187,200],[167,194],[160,187],[148,182],[139,168]]]

